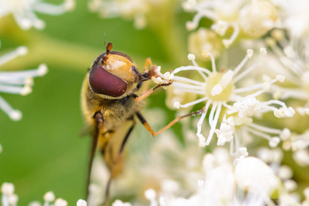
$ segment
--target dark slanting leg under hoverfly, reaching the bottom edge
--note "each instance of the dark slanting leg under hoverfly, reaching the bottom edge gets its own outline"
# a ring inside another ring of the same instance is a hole
[[[122,155],[122,152],[124,151],[124,146],[126,145],[126,142],[128,141],[128,137],[130,137],[130,134],[132,133],[133,131],[133,128],[135,127],[135,121],[133,120],[133,125],[130,126],[128,132],[126,133],[126,136],[124,136],[124,139],[122,140],[122,144],[119,148],[119,151],[113,161],[113,166],[111,168],[111,176],[110,178],[108,179],[108,183],[106,185],[106,190],[105,190],[105,201],[103,203],[103,205],[108,205],[108,201],[109,201],[109,187],[111,187],[111,180],[113,179],[113,168],[114,168],[114,165],[117,164],[117,162],[119,161],[121,155]]]

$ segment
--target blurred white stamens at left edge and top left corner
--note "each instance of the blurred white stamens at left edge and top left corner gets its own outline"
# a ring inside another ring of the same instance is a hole
[[[29,30],[31,27],[43,29],[45,22],[38,19],[35,12],[59,15],[75,7],[75,0],[65,0],[59,5],[44,2],[45,0],[0,0],[0,18],[12,14],[16,23],[22,30]],[[0,56],[0,67],[6,62],[27,54],[27,47],[18,47],[13,52]],[[27,95],[32,92],[33,78],[44,76],[48,69],[41,64],[37,69],[27,71],[0,71],[0,92]],[[0,108],[10,119],[19,120],[22,117],[21,111],[16,110],[0,96]]]

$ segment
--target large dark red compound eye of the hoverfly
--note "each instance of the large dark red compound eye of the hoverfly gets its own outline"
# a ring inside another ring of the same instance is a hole
[[[100,65],[89,71],[89,84],[95,93],[117,98],[126,92],[127,84],[121,78],[109,73]]]

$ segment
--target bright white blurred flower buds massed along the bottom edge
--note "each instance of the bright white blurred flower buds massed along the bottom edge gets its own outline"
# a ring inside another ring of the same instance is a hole
[[[306,205],[309,201],[308,190],[304,190],[306,199],[301,203],[292,192],[295,182],[291,180],[290,168],[282,165],[273,168],[256,157],[246,157],[233,167],[225,149],[216,148],[203,160],[205,178],[195,184],[196,192],[189,197],[175,196],[167,191],[157,193],[153,189],[144,195],[150,206],[172,205]],[[283,184],[282,184],[283,183]],[[279,191],[279,203],[271,196]],[[113,206],[130,206],[130,203],[115,201]],[[135,204],[133,204],[135,205]]]

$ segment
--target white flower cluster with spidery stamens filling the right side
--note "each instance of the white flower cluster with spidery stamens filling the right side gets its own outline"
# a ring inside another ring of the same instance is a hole
[[[187,30],[198,29],[189,37],[190,52],[202,53],[204,59],[210,57],[211,70],[200,67],[196,56],[189,54],[187,58],[192,65],[176,68],[152,80],[156,84],[172,82],[170,87],[176,91],[174,95],[180,94],[179,98],[174,98],[176,101],[168,103],[174,108],[203,107],[196,124],[199,145],[209,146],[216,133],[217,145],[229,143],[229,153],[235,158],[227,160],[230,159],[227,152],[215,148],[204,158],[205,179],[196,183],[196,192],[191,196],[183,195],[185,198],[179,195],[181,193],[163,190],[162,186],[146,190],[145,197],[150,205],[309,205],[309,187],[304,190],[301,200],[297,182],[292,179],[293,170],[288,165],[281,165],[282,149],[293,151],[299,165],[309,165],[309,132],[294,133],[286,124],[288,119],[276,119],[289,117],[290,121],[308,122],[308,119],[301,119],[309,115],[308,8],[309,3],[305,0],[183,2],[186,12],[194,12],[193,20],[187,22]],[[203,17],[212,21],[210,30],[203,26]],[[224,62],[226,54],[242,52],[236,41],[244,43],[242,40],[248,38],[253,48],[262,47],[260,56],[251,66],[245,68],[253,57],[253,50],[248,49],[247,56],[234,69],[223,67],[225,69],[217,70],[218,62]],[[221,40],[225,51],[220,46]],[[235,47],[227,49],[232,43]],[[270,54],[266,55],[264,47],[268,47]],[[259,64],[262,56],[263,67]],[[218,58],[217,65],[215,58]],[[160,69],[158,67],[158,73]],[[179,76],[179,73],[184,74]],[[255,83],[258,78],[262,81]],[[194,95],[183,98],[189,96],[184,93]],[[288,101],[290,99],[299,100],[295,110],[286,106],[293,103]],[[295,115],[295,111],[301,117]],[[203,127],[206,118],[209,131],[204,131]],[[273,125],[279,128],[273,128]],[[266,139],[268,148],[261,148],[254,137]],[[255,148],[248,150],[253,141]],[[211,146],[207,148],[211,149]],[[258,158],[248,157],[255,152]]]

